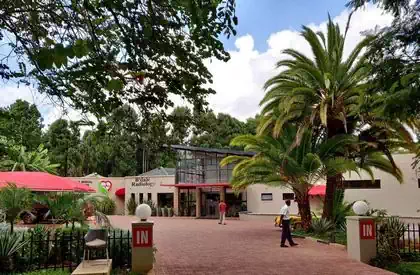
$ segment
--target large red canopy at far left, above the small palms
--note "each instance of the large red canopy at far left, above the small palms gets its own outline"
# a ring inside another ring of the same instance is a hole
[[[0,172],[0,188],[8,182],[32,191],[95,192],[86,184],[44,172]]]

